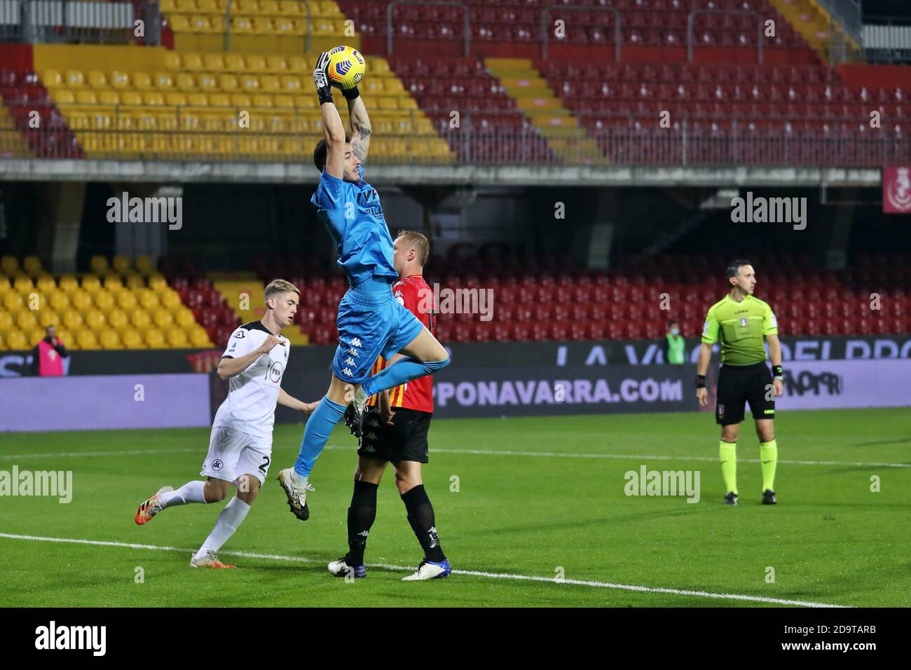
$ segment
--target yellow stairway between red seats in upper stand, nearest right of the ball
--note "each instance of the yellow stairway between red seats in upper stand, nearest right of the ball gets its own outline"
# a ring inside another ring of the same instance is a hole
[[[563,100],[550,88],[547,79],[540,76],[531,60],[486,58],[484,64],[516,100],[516,107],[525,114],[541,137],[547,140],[548,147],[560,160],[601,165],[608,163],[598,142],[588,136],[578,119],[564,107]],[[589,158],[578,160],[580,155]]]

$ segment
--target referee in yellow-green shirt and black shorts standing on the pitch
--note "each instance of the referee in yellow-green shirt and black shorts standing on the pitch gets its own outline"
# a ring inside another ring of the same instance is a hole
[[[718,342],[722,347],[722,367],[718,374],[715,422],[722,427],[719,455],[727,490],[724,504],[737,504],[737,436],[743,407],[749,402],[756,420],[763,464],[763,505],[774,505],[775,465],[778,462],[773,426],[774,398],[783,392],[778,321],[772,307],[752,295],[756,273],[749,261],[734,261],[728,265],[727,281],[731,293],[711,305],[702,326],[702,345],[696,364],[696,398],[702,407],[709,404],[705,373],[711,360],[711,345]],[[763,337],[769,343],[774,378],[765,363]]]

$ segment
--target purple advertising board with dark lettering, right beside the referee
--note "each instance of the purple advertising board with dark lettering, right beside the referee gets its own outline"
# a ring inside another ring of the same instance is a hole
[[[911,406],[911,360],[792,361],[776,407],[836,409]]]

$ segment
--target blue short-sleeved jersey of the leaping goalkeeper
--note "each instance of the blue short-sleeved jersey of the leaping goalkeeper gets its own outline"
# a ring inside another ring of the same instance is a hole
[[[356,184],[322,171],[320,185],[310,201],[335,242],[337,263],[348,281],[362,283],[373,277],[398,281],[393,265],[393,238],[386,227],[380,196],[361,179]]]

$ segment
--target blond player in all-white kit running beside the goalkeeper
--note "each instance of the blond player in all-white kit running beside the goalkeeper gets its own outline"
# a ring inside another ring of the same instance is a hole
[[[262,320],[241,325],[230,336],[218,369],[221,379],[230,379],[228,397],[212,422],[209,453],[200,472],[208,480],[189,481],[178,490],[162,487],[136,510],[141,526],[161,510],[189,502],[218,502],[232,485],[237,487],[237,495],[221,510],[215,528],[190,559],[191,567],[235,567],[220,562],[215,552],[241,525],[269,471],[276,403],[307,414],[317,405],[281,390],[289,353],[281,328],[292,323],[300,295],[292,283],[276,279],[266,286]]]

